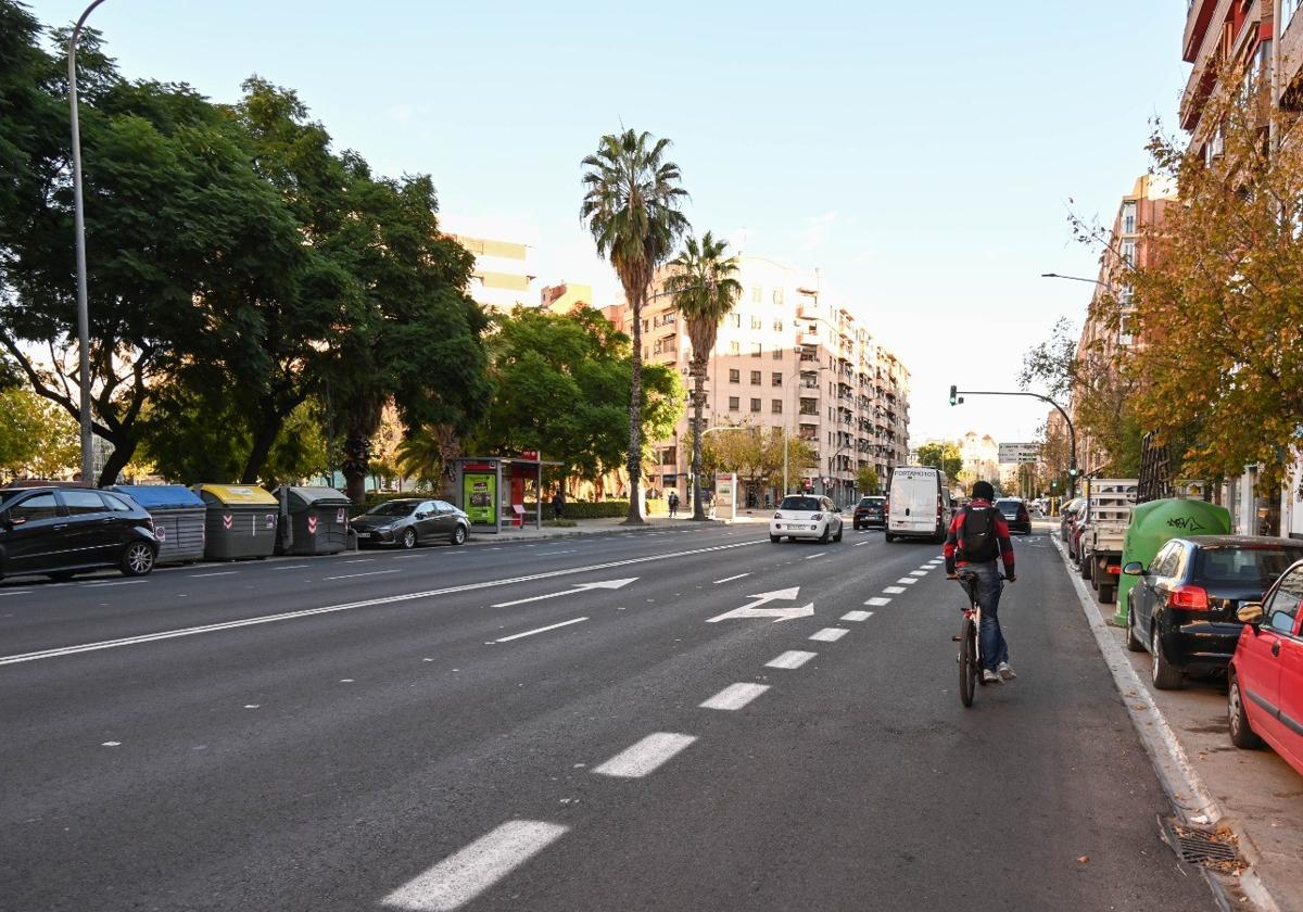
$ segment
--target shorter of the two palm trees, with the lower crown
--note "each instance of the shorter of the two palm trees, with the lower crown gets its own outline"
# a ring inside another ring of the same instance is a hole
[[[688,323],[688,339],[692,340],[688,365],[692,377],[692,519],[702,521],[706,511],[701,503],[701,410],[706,405],[706,369],[719,323],[741,294],[741,285],[734,278],[737,258],[724,258],[727,246],[728,241],[715,240],[709,231],[700,245],[697,238],[689,237],[683,251],[670,261],[674,274],[665,281],[666,291],[674,294],[674,309]]]

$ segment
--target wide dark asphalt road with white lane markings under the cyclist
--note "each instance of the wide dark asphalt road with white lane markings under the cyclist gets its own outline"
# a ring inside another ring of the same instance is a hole
[[[967,710],[938,549],[878,532],[5,582],[0,908],[1213,908],[1015,547],[1019,677]],[[813,611],[708,623],[748,605]]]

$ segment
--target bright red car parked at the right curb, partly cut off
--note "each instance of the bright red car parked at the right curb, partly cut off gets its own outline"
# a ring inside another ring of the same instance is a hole
[[[1230,740],[1237,748],[1267,741],[1303,775],[1303,560],[1239,610],[1244,629],[1227,671]]]

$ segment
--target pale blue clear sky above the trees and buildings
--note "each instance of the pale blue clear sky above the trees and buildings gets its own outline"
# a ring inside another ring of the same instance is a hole
[[[47,25],[86,0],[29,0]],[[912,374],[911,438],[1031,440],[1023,353],[1076,326],[1097,250],[1174,129],[1183,0],[107,0],[90,23],[128,77],[219,102],[257,73],[339,149],[430,173],[448,231],[530,245],[536,288],[620,297],[579,219],[580,160],[623,126],[668,137],[694,231],[820,270]]]

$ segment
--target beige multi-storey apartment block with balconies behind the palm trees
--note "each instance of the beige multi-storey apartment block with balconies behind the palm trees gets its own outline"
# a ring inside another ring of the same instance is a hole
[[[663,293],[663,278],[642,307],[642,356],[672,366],[687,384],[691,343]],[[737,280],[741,298],[719,327],[710,357],[705,426],[787,429],[816,452],[814,465],[800,466],[812,490],[850,503],[860,468],[874,468],[885,481],[891,466],[906,463],[908,370],[850,310],[822,300],[813,278],[743,257]],[[632,319],[623,305],[603,313],[618,326]],[[653,444],[654,490],[687,494],[689,421],[691,410],[670,439]],[[749,507],[764,507],[774,494],[753,486],[741,496]]]

